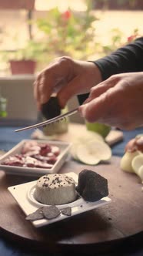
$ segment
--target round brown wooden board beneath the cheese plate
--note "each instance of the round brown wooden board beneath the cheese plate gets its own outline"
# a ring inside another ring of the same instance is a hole
[[[88,168],[108,179],[111,203],[93,211],[79,214],[47,227],[34,227],[25,220],[7,187],[35,180],[30,177],[5,175],[0,171],[0,231],[17,246],[40,251],[72,251],[96,253],[120,251],[139,246],[143,231],[143,193],[135,174],[125,173],[119,167],[120,158],[112,157],[110,163],[89,167],[70,160],[60,173]]]

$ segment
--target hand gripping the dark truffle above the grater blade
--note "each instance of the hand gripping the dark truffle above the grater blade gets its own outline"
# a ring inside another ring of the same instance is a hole
[[[38,109],[57,93],[58,103],[64,108],[68,99],[80,93],[88,93],[91,86],[101,82],[101,73],[93,62],[73,60],[69,57],[55,59],[37,77],[34,95]]]

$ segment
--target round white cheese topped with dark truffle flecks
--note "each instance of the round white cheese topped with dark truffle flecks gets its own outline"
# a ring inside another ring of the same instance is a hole
[[[46,174],[35,187],[35,199],[42,204],[68,204],[76,200],[75,180],[65,174]]]

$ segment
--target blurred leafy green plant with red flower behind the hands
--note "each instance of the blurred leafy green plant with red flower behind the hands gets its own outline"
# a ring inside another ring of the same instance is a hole
[[[52,8],[47,17],[37,19],[36,25],[43,35],[42,42],[48,53],[47,61],[64,55],[88,58],[95,49],[93,22],[96,20],[90,5],[85,12],[73,12],[70,8],[60,12],[58,8]]]

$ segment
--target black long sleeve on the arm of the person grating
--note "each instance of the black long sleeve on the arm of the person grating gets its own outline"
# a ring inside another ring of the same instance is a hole
[[[143,37],[119,48],[109,56],[95,60],[94,63],[101,71],[102,80],[123,72],[143,71]],[[88,93],[79,95],[79,103],[83,103],[87,97]]]

